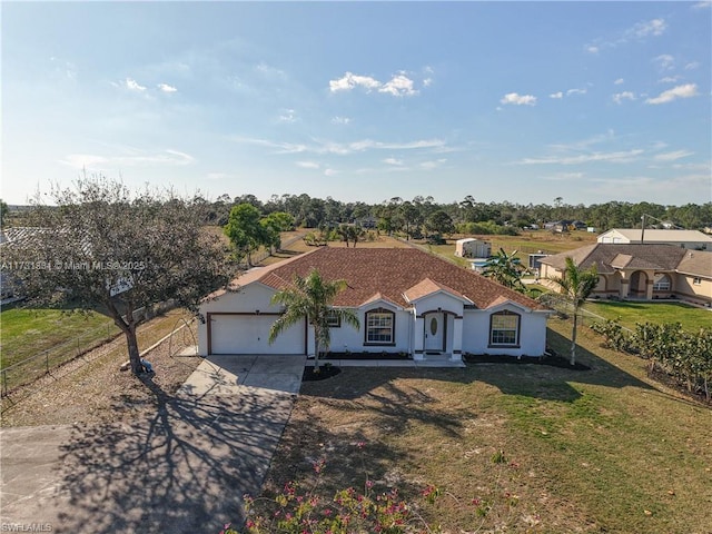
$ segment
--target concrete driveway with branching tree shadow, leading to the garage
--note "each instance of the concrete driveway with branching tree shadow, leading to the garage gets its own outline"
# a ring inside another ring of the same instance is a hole
[[[202,362],[175,397],[156,392],[156,413],[130,424],[0,431],[2,528],[180,534],[241,522],[241,497],[259,494],[304,357],[218,359]]]

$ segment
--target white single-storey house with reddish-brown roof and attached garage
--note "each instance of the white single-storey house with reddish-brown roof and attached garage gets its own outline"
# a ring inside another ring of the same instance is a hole
[[[273,345],[269,329],[283,309],[273,295],[294,276],[317,269],[345,279],[335,307],[358,313],[360,329],[335,323],[332,352],[403,353],[414,359],[462,354],[541,356],[551,310],[472,270],[414,248],[319,248],[253,269],[235,291],[218,291],[200,307],[199,354],[314,354],[304,322]]]

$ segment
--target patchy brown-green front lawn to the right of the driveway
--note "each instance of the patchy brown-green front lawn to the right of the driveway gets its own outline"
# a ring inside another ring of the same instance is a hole
[[[550,326],[564,353],[571,324]],[[314,479],[312,462],[325,459],[325,496],[367,477],[419,503],[436,485],[444,495],[422,513],[449,533],[709,533],[712,411],[589,329],[580,343],[591,370],[345,368],[304,383],[266,494]],[[485,517],[474,498],[492,506]]]

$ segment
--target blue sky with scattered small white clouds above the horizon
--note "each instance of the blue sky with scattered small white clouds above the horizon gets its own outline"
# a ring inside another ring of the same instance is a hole
[[[2,2],[2,198],[712,201],[710,2]]]

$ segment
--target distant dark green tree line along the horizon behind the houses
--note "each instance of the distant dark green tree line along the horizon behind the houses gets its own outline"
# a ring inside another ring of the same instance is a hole
[[[208,207],[208,222],[216,226],[228,224],[233,207],[249,204],[264,217],[273,212],[288,214],[297,227],[333,228],[339,224],[362,224],[408,236],[444,228],[463,234],[506,234],[523,228],[543,228],[546,222],[557,220],[580,220],[597,231],[604,231],[611,228],[640,228],[643,215],[650,216],[647,227],[652,226],[651,222],[660,221],[685,229],[703,229],[712,225],[712,202],[664,206],[612,200],[584,206],[566,204],[562,197],[557,197],[552,205],[523,205],[506,200],[484,202],[468,195],[463,200],[446,204],[423,196],[411,200],[393,197],[379,204],[366,204],[344,202],[332,197],[322,199],[307,194],[273,195],[266,201],[255,195],[221,195],[215,201],[204,199],[204,202]]]

